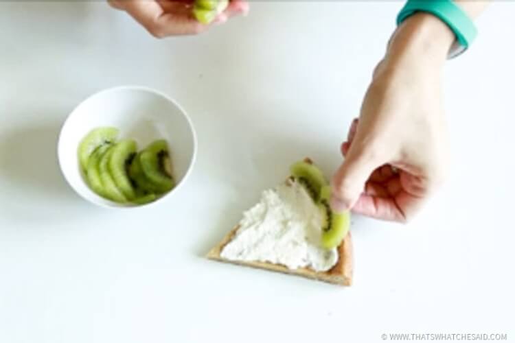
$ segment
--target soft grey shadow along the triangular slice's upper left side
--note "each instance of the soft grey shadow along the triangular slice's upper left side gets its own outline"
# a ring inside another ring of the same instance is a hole
[[[340,163],[338,147],[324,147],[317,139],[286,137],[284,132],[261,132],[256,139],[259,144],[251,144],[246,161],[238,161],[244,175],[230,180],[234,191],[231,202],[222,206],[218,223],[207,230],[205,239],[196,248],[196,255],[204,257],[220,243],[242,218],[242,213],[260,199],[262,191],[278,185],[289,175],[290,164],[310,157],[330,176],[330,169]],[[336,152],[335,152],[336,151]],[[230,166],[229,166],[230,167]]]

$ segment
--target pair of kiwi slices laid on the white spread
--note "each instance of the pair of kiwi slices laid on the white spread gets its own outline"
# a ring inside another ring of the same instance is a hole
[[[329,205],[331,187],[322,171],[309,158],[294,163],[290,167],[290,173],[297,182],[306,187],[323,215],[321,246],[326,249],[339,246],[350,229],[350,212],[332,211]]]

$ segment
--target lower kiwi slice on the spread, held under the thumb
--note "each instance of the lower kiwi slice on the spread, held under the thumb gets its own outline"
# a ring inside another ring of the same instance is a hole
[[[326,249],[339,246],[350,229],[350,212],[336,213],[329,204],[331,187],[321,188],[319,208],[323,215],[321,246]]]

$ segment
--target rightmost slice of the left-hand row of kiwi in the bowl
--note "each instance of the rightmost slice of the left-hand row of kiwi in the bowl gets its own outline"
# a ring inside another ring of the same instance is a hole
[[[136,192],[128,176],[128,165],[136,156],[137,144],[132,139],[119,141],[113,147],[111,158],[108,161],[108,170],[117,188],[122,191],[125,198],[133,200]]]

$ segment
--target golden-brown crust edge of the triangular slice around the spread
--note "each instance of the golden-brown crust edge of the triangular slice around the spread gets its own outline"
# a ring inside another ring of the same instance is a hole
[[[287,180],[288,182],[288,180]],[[334,283],[336,285],[350,286],[352,284],[352,239],[350,233],[343,239],[342,243],[338,247],[338,261],[333,268],[326,272],[317,272],[309,268],[298,268],[291,270],[286,268],[284,265],[260,262],[260,261],[232,261],[225,259],[221,256],[223,248],[229,244],[229,242],[236,235],[236,231],[240,226],[234,227],[223,239],[220,241],[218,246],[215,246],[207,253],[208,259],[214,259],[216,261],[233,263],[237,265],[246,265],[248,267],[260,268],[265,270],[271,270],[273,272],[282,272],[290,275],[304,276],[308,279],[314,279],[324,281],[327,283]]]

